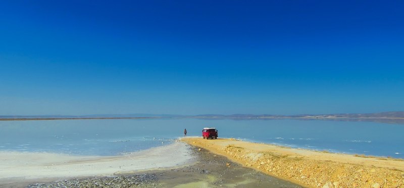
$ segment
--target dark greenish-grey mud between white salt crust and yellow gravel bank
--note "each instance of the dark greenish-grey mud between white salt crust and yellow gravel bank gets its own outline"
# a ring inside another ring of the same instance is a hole
[[[192,147],[196,163],[170,170],[145,171],[157,174],[157,187],[301,187],[255,169],[243,167],[209,150]]]

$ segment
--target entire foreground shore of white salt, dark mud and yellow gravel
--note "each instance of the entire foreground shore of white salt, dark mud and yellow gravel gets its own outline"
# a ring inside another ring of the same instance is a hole
[[[293,187],[404,186],[401,159],[197,136],[122,156],[0,152],[0,172],[0,187],[53,183],[140,183],[151,187],[279,187],[279,183]]]

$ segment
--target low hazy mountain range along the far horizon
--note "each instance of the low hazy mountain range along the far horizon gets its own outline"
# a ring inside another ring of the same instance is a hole
[[[192,118],[192,119],[232,119],[232,120],[327,120],[327,121],[371,121],[390,124],[404,124],[404,111],[381,112],[367,114],[299,114],[299,115],[271,115],[271,114],[201,114],[201,115],[175,115],[175,114],[94,114],[94,115],[0,115],[0,121],[13,120],[69,120],[69,119],[159,119],[159,118]]]

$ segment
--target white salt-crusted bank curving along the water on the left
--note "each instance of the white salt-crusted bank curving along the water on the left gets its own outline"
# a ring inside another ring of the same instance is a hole
[[[191,158],[187,145],[181,142],[110,157],[0,152],[0,182],[169,168],[191,163]]]

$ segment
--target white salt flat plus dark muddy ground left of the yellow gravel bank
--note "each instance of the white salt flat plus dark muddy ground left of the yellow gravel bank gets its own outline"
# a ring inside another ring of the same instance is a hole
[[[113,157],[1,152],[0,176],[0,187],[301,187],[183,142]]]

